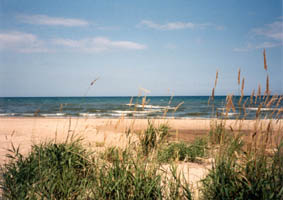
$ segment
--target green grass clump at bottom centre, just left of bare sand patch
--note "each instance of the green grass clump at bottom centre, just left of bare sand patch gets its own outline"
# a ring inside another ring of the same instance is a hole
[[[157,166],[134,158],[127,149],[110,148],[105,159],[95,167],[91,199],[162,199]]]

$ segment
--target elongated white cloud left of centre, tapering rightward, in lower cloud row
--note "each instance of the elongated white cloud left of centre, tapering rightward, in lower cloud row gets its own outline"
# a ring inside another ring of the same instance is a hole
[[[82,40],[54,39],[53,43],[59,46],[74,48],[76,51],[102,52],[112,49],[142,50],[146,46],[131,41],[112,41],[106,37],[87,38]]]

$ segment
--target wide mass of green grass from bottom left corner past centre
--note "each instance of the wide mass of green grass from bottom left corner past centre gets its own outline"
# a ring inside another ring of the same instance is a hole
[[[10,162],[1,168],[3,199],[191,198],[176,171],[163,171],[137,146],[107,148],[97,155],[79,141],[34,145],[27,157],[13,148]]]

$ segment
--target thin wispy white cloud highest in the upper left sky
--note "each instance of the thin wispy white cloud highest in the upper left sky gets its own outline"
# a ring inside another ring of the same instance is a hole
[[[49,26],[88,26],[89,23],[81,19],[49,17],[47,15],[19,15],[18,19],[28,24],[39,24]]]

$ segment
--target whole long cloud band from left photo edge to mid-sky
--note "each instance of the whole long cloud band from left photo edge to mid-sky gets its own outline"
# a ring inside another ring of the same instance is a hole
[[[0,50],[20,53],[42,53],[76,51],[96,53],[111,50],[142,50],[146,45],[124,40],[110,40],[106,37],[71,40],[57,38],[41,40],[36,35],[24,32],[0,32]]]

